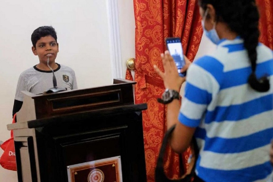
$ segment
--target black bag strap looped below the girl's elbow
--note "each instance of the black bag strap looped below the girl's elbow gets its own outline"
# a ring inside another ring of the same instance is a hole
[[[184,178],[182,179],[177,179],[177,180],[170,180],[169,178],[166,177],[165,173],[164,173],[164,164],[163,164],[163,158],[164,158],[164,153],[168,144],[168,141],[170,139],[170,136],[172,134],[172,132],[174,131],[176,125],[172,126],[169,130],[166,131],[163,141],[162,141],[162,146],[160,148],[160,152],[159,152],[159,156],[157,159],[157,166],[155,169],[155,181],[156,182],[190,182],[192,177],[195,176],[195,166],[196,166],[196,161],[197,161],[197,157],[199,155],[199,150],[198,150],[198,146],[197,146],[197,141],[195,139],[195,137],[193,137],[192,139],[192,143],[193,143],[193,147],[194,147],[194,155],[195,155],[195,161],[194,161],[194,166],[190,172],[190,174],[186,175]]]

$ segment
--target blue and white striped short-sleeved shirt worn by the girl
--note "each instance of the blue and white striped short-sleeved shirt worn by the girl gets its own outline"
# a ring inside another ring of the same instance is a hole
[[[273,52],[257,47],[256,76],[270,79],[270,90],[251,89],[251,64],[243,39],[222,40],[217,50],[187,71],[179,121],[197,127],[197,175],[208,182],[265,181],[272,167]]]

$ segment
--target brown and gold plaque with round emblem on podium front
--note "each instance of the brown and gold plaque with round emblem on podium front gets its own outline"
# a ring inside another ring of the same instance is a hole
[[[120,156],[67,166],[69,182],[122,182]]]

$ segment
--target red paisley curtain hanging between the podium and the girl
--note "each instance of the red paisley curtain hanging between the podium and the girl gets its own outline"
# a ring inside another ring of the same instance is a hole
[[[147,181],[154,181],[154,170],[166,131],[166,107],[157,102],[164,91],[162,79],[153,69],[163,70],[160,53],[164,52],[166,37],[181,37],[186,56],[193,60],[203,29],[197,0],[134,0],[136,22],[135,102],[147,103],[143,111],[143,134]],[[127,70],[126,79],[132,79]],[[187,167],[190,149],[182,157],[168,149],[165,170],[177,178]]]

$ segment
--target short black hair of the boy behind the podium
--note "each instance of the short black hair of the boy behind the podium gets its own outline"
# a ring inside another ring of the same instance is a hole
[[[57,42],[57,34],[52,26],[41,26],[35,29],[31,35],[31,42],[33,47],[36,48],[36,43],[41,37],[51,35]]]

